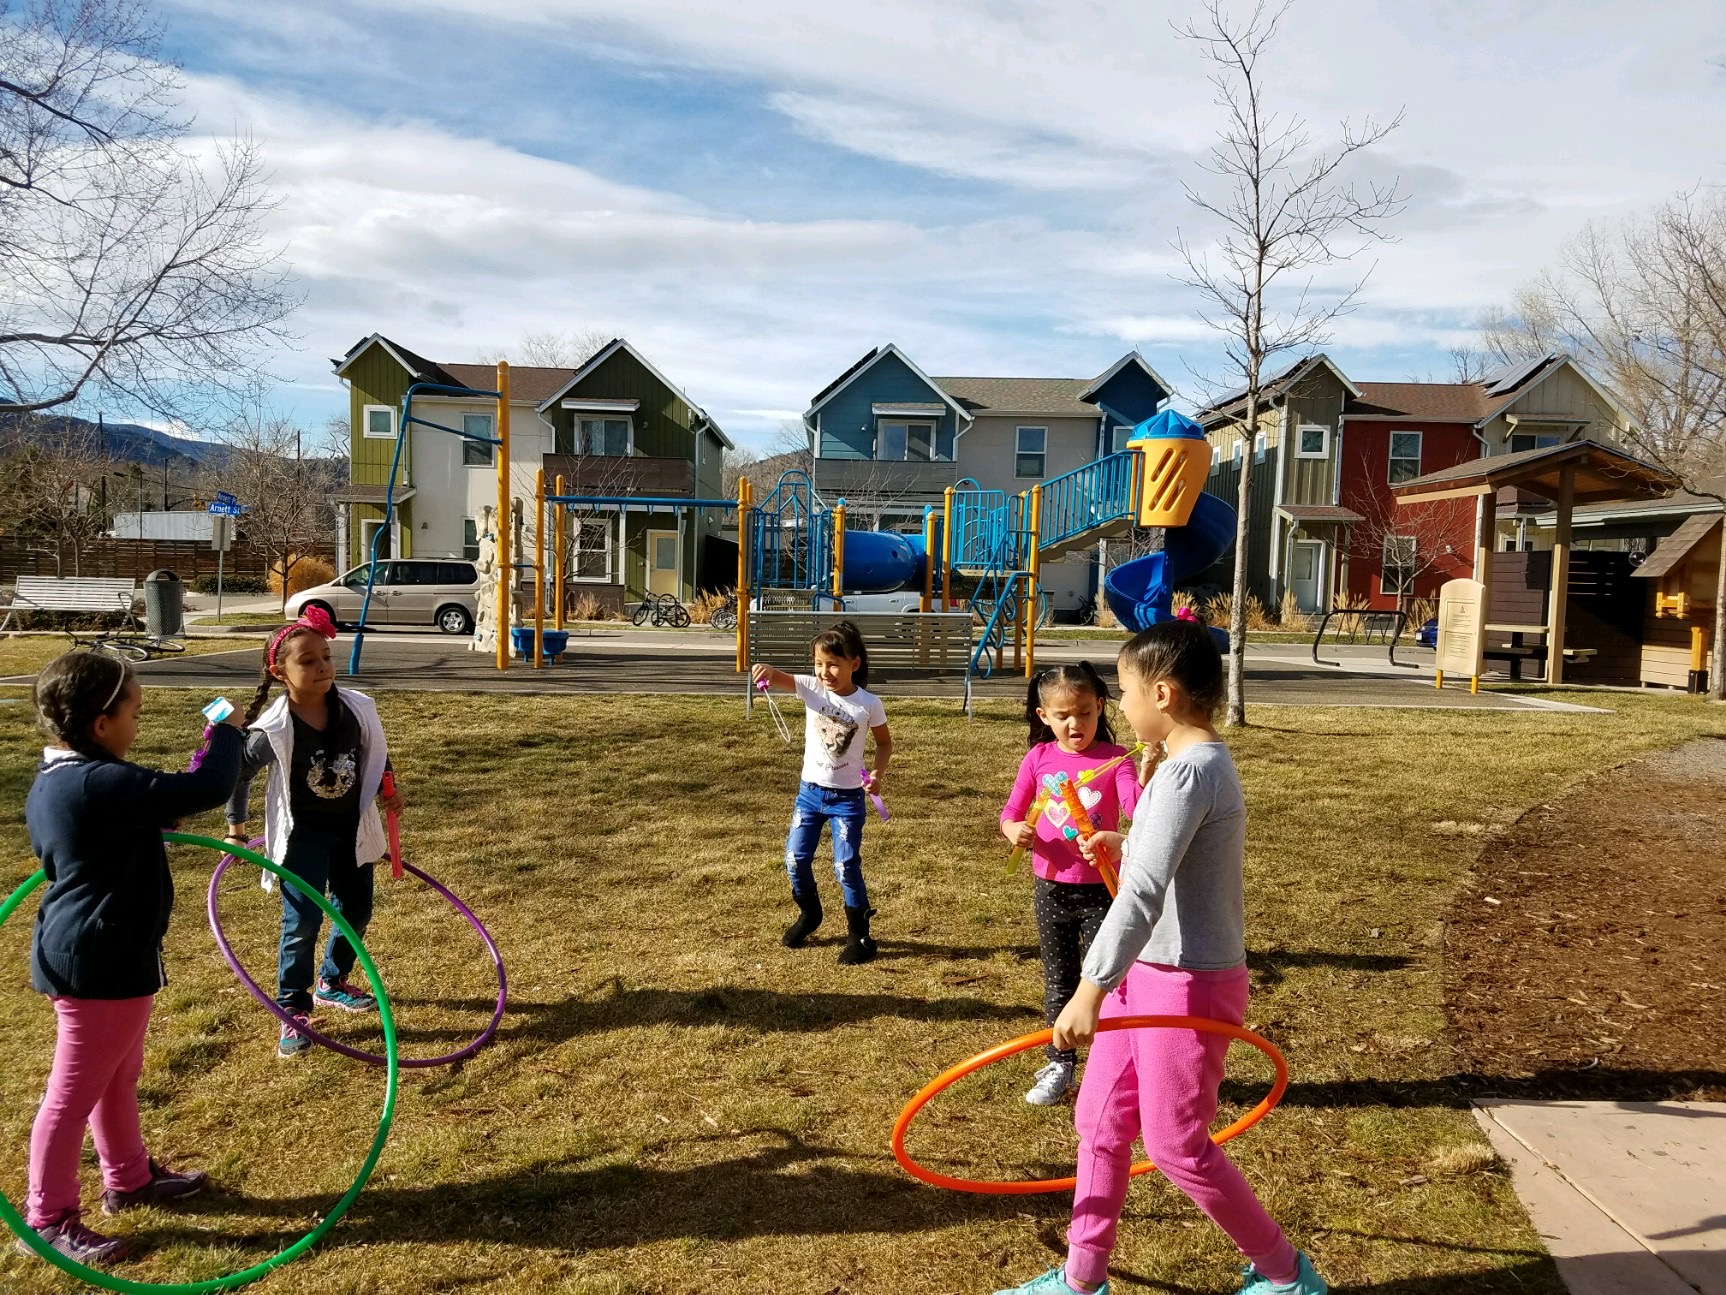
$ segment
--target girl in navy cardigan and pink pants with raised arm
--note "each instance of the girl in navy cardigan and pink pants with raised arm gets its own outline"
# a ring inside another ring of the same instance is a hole
[[[24,801],[29,844],[48,874],[29,979],[54,1001],[59,1033],[29,1134],[24,1219],[81,1264],[128,1252],[78,1221],[85,1124],[102,1162],[104,1214],[190,1197],[209,1181],[171,1172],[145,1150],[138,1076],[150,1005],[167,979],[174,882],[162,831],[233,791],[240,725],[238,717],[216,725],[197,772],[162,774],[126,761],[142,703],[131,670],[93,653],[69,653],[36,677],[36,720],[52,744]]]

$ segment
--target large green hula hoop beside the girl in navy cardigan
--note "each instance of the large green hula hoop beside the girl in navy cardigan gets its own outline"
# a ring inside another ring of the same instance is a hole
[[[235,858],[243,858],[247,863],[255,863],[266,872],[273,872],[283,882],[299,881],[292,872],[288,872],[283,867],[278,867],[276,863],[271,863],[262,855],[257,855],[250,850],[243,850],[235,844],[214,841],[212,837],[207,836],[193,836],[190,832],[164,832],[162,839],[173,841],[174,844],[180,846],[200,846],[204,850],[214,850],[217,855],[233,855]],[[9,894],[5,903],[0,903],[0,924],[5,924],[5,920],[12,917],[14,912],[17,912],[17,906],[24,903],[29,893],[35,891],[38,886],[41,886],[45,879],[47,874],[43,874],[38,869],[33,877],[29,877],[22,886],[19,886],[16,891],[12,891],[12,894]],[[371,955],[366,951],[366,946],[359,939],[359,932],[354,931],[349,920],[335,910],[335,905],[331,905],[316,889],[309,886],[297,886],[297,889],[300,889],[302,894],[314,900],[318,906],[324,912],[324,917],[328,917],[335,924],[335,929],[347,938],[347,943],[354,946],[354,951],[359,955],[359,965],[366,969],[366,976],[371,981],[371,988],[376,991],[378,1017],[383,1020],[383,1055],[388,1064],[385,1088],[383,1088],[383,1117],[378,1121],[378,1136],[371,1140],[371,1150],[366,1153],[366,1162],[359,1167],[359,1178],[354,1179],[354,1186],[350,1186],[347,1193],[342,1197],[342,1200],[338,1200],[335,1207],[323,1217],[323,1222],[319,1222],[316,1228],[306,1233],[306,1236],[297,1240],[281,1254],[273,1255],[271,1259],[266,1259],[262,1264],[255,1264],[254,1267],[249,1267],[242,1273],[230,1273],[224,1278],[211,1278],[209,1281],[186,1281],[178,1285],[173,1281],[128,1281],[126,1278],[116,1278],[112,1273],[104,1273],[95,1267],[86,1267],[85,1264],[67,1259],[59,1250],[43,1241],[41,1236],[36,1235],[36,1229],[31,1228],[28,1222],[24,1222],[22,1216],[12,1207],[12,1202],[5,1198],[5,1193],[0,1193],[0,1219],[5,1221],[5,1226],[10,1228],[17,1235],[17,1238],[24,1241],[24,1245],[35,1250],[41,1259],[47,1259],[50,1264],[54,1264],[54,1267],[60,1269],[62,1273],[69,1273],[79,1281],[88,1281],[91,1286],[100,1286],[102,1290],[117,1290],[123,1292],[124,1295],[155,1295],[157,1292],[166,1292],[166,1295],[204,1295],[205,1292],[233,1290],[235,1286],[243,1286],[249,1281],[257,1281],[261,1276],[273,1273],[283,1264],[293,1262],[302,1254],[311,1250],[314,1245],[318,1245],[318,1241],[324,1238],[324,1235],[328,1235],[331,1228],[335,1228],[337,1221],[343,1214],[347,1214],[349,1207],[359,1198],[361,1190],[364,1190],[366,1186],[366,1179],[371,1178],[371,1171],[378,1167],[378,1157],[383,1153],[383,1143],[390,1136],[390,1124],[395,1121],[395,1084],[400,1071],[397,1064],[399,1057],[395,1046],[395,1012],[390,1008],[390,996],[383,991],[383,977],[378,976],[378,963],[371,960]]]

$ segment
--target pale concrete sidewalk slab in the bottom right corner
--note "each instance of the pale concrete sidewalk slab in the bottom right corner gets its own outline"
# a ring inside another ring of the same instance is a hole
[[[1571,1295],[1726,1295],[1726,1103],[1481,1102]]]

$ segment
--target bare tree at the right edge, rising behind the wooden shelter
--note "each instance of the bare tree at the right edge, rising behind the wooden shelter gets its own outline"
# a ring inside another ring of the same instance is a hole
[[[1591,224],[1559,264],[1488,319],[1515,359],[1569,351],[1622,401],[1628,449],[1726,509],[1726,188]],[[1714,597],[1709,694],[1726,701],[1726,561]]]

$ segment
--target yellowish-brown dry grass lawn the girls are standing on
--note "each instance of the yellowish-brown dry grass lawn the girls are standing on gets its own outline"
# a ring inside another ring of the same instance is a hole
[[[0,832],[17,881],[35,867],[22,798],[40,739],[22,692],[0,699]],[[204,701],[152,691],[138,758],[181,767]],[[1248,1024],[1293,1072],[1282,1107],[1231,1153],[1338,1292],[1560,1290],[1450,1065],[1441,917],[1484,834],[1590,770],[1726,732],[1726,713],[1690,699],[1607,704],[1257,708],[1257,727],[1231,737],[1251,813]],[[323,1248],[259,1290],[972,1295],[1058,1257],[1065,1198],[937,1191],[887,1152],[922,1083],[1041,1027],[1030,886],[1006,874],[994,831],[1024,741],[1010,706],[984,704],[972,723],[953,704],[889,706],[892,822],[872,820],[865,844],[882,958],[854,969],[835,963],[842,920],[808,950],[778,944],[799,753],[763,717],[704,698],[385,694],[381,708],[409,856],[490,925],[511,1014],[461,1071],[404,1074],[371,1188]],[[207,1167],[221,1191],[117,1221],[154,1247],[126,1267],[136,1279],[209,1278],[306,1231],[352,1179],[383,1090],[378,1071],[323,1052],[274,1058],[271,1019],[202,920],[212,865],[176,851],[142,1093],[152,1148]],[[449,1050],[487,1019],[488,962],[435,896],[378,884],[371,946],[404,1046]],[[221,901],[242,957],[271,979],[274,901],[240,870]],[[33,912],[0,929],[12,1200],[54,1039],[26,981]],[[331,1027],[373,1038],[364,1022]],[[961,1174],[1067,1172],[1070,1112],[1018,1100],[1036,1065],[967,1081],[913,1131],[913,1152]],[[1255,1053],[1232,1050],[1225,1115],[1267,1083]],[[1167,1184],[1134,1188],[1118,1290],[1232,1290],[1238,1264]],[[74,1290],[10,1250],[0,1286]]]

